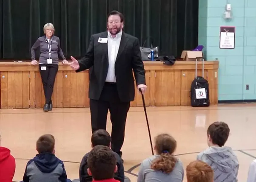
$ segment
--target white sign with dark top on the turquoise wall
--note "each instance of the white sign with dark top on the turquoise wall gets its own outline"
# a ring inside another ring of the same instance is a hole
[[[220,49],[234,49],[235,48],[235,27],[221,26],[219,34],[219,48]]]

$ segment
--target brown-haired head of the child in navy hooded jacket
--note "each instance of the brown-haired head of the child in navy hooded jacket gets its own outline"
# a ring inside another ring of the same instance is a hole
[[[37,151],[39,154],[41,153],[55,153],[54,150],[55,139],[51,134],[44,134],[40,136],[37,140]]]

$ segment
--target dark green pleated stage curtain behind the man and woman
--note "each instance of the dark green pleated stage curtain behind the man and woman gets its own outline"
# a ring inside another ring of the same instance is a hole
[[[151,36],[161,55],[179,57],[197,46],[198,0],[0,0],[0,60],[30,60],[47,22],[67,59],[79,58],[91,34],[106,30],[112,10],[124,14],[126,33],[141,45]]]

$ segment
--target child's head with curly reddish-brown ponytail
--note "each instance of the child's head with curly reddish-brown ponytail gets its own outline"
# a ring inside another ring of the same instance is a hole
[[[176,140],[169,134],[159,134],[155,138],[155,151],[160,155],[153,161],[151,169],[155,171],[162,171],[164,173],[171,173],[177,162],[173,153],[176,149]]]

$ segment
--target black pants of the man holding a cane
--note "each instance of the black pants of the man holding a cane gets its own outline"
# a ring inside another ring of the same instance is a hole
[[[117,93],[116,84],[106,83],[103,87],[100,100],[90,99],[91,128],[92,132],[97,129],[106,129],[108,109],[112,123],[111,149],[117,154],[125,139],[125,123],[130,102],[121,102]]]

